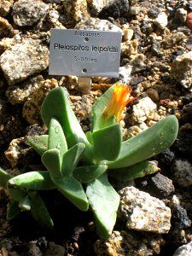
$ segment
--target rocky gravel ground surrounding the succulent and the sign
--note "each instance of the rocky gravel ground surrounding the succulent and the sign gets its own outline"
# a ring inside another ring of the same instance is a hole
[[[92,78],[88,93],[75,76],[50,76],[50,29],[123,33],[119,79]],[[90,213],[60,194],[42,194],[57,232],[45,233],[22,212],[8,222],[9,197],[0,189],[0,255],[191,255],[192,252],[192,1],[2,0],[0,2],[0,166],[11,173],[38,165],[26,135],[44,134],[41,104],[65,86],[84,131],[91,105],[121,80],[137,101],[126,108],[124,138],[169,114],[179,121],[171,148],[156,156],[160,172],[116,184],[121,203],[108,241],[96,236]],[[133,203],[134,202],[134,203]],[[131,209],[137,209],[137,214]]]

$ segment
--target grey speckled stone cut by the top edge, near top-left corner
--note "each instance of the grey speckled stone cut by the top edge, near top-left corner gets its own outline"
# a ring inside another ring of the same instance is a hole
[[[17,26],[32,26],[47,13],[49,6],[42,1],[19,0],[13,5],[13,19]]]

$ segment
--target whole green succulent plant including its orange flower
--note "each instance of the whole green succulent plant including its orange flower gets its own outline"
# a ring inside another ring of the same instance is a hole
[[[49,134],[27,137],[47,171],[12,177],[0,169],[0,186],[12,198],[8,218],[20,210],[31,211],[40,224],[53,230],[38,191],[58,189],[79,210],[91,209],[98,236],[108,238],[119,207],[119,194],[108,176],[127,181],[157,172],[159,168],[148,159],[169,148],[177,137],[177,119],[171,115],[123,141],[119,120],[125,105],[134,99],[129,86],[114,84],[93,105],[91,130],[84,134],[66,90],[50,90],[41,109]]]

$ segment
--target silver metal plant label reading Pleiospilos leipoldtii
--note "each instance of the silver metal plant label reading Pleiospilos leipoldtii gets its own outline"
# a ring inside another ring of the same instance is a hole
[[[121,32],[51,29],[49,74],[119,77]]]

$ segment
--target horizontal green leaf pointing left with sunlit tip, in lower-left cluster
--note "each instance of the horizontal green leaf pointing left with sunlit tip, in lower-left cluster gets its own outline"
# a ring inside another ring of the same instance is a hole
[[[26,172],[9,179],[9,185],[20,189],[55,189],[55,185],[50,179],[49,172]]]

